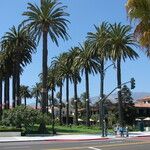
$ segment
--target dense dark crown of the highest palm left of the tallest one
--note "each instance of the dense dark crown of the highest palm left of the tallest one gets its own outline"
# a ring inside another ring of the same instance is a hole
[[[36,48],[33,36],[21,25],[18,28],[13,26],[10,32],[6,32],[2,37],[1,44],[2,50],[7,53],[7,56],[11,56],[13,62],[17,61],[22,66],[31,62],[32,53]]]

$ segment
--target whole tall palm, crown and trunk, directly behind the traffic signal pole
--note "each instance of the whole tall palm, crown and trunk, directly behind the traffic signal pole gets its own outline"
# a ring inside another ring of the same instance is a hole
[[[104,75],[105,68],[104,64],[108,57],[108,23],[102,22],[102,24],[97,27],[94,26],[96,32],[89,32],[87,40],[90,43],[91,55],[92,57],[100,64],[99,73],[100,73],[100,102],[99,102],[99,112],[100,115],[100,125],[102,127],[102,136],[104,136],[104,111],[103,111],[103,101],[104,98]]]

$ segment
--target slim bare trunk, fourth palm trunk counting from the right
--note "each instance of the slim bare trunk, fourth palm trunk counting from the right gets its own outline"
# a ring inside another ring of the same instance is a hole
[[[78,125],[77,78],[74,79],[75,125]]]

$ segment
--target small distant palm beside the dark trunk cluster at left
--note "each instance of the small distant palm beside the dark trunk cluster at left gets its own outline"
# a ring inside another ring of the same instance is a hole
[[[24,98],[24,105],[27,106],[27,98],[31,98],[31,92],[29,86],[21,85],[20,86],[20,97]]]

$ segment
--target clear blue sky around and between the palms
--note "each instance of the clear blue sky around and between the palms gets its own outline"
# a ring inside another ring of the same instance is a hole
[[[71,39],[64,42],[59,40],[59,47],[49,39],[49,64],[51,58],[67,51],[72,46],[77,46],[85,40],[87,32],[94,32],[93,25],[100,25],[102,21],[109,23],[121,22],[130,24],[127,19],[125,3],[126,0],[61,0],[68,8],[66,11],[70,14],[68,17]],[[40,4],[40,0],[1,0],[0,1],[0,37],[13,25],[17,26],[22,20],[21,15],[27,7],[27,3],[32,2]],[[134,27],[134,24],[132,24]],[[131,77],[136,80],[135,92],[150,92],[150,59],[148,59],[144,50],[135,49],[140,58],[136,61],[126,60],[122,63],[122,81],[128,81]],[[37,52],[33,54],[33,61],[29,64],[21,76],[21,84],[32,85],[39,81],[38,74],[41,72],[41,43],[37,47]],[[109,63],[108,63],[109,64]],[[107,65],[108,65],[107,64]],[[105,75],[105,93],[109,93],[116,86],[116,70],[109,68]],[[79,95],[85,91],[84,77],[79,85]],[[90,95],[99,95],[99,75],[90,76]],[[70,85],[70,96],[73,96],[73,86]],[[65,91],[63,91],[65,97]]]

